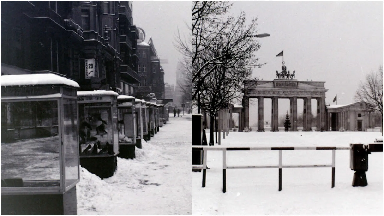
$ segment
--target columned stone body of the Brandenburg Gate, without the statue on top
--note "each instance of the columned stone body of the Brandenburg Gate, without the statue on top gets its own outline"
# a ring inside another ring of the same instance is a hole
[[[277,72],[276,72],[277,73]],[[317,100],[317,125],[316,130],[325,130],[326,122],[326,105],[325,89],[323,81],[298,81],[290,79],[275,79],[273,81],[245,80],[243,95],[243,127],[249,128],[249,99],[258,99],[258,131],[264,131],[264,98],[272,99],[272,120],[271,130],[278,131],[278,99],[290,99],[290,120],[291,130],[297,131],[297,100],[304,100],[303,108],[303,131],[311,130],[311,99]],[[308,117],[309,116],[309,117]],[[242,128],[243,129],[243,128]]]

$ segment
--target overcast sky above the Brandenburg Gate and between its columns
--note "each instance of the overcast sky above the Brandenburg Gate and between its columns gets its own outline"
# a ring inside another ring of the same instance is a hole
[[[276,78],[284,50],[287,70],[301,81],[325,81],[326,104],[354,102],[360,81],[383,64],[382,2],[233,2],[230,14],[258,18],[260,38],[256,55],[267,64],[253,71],[261,80]],[[344,94],[343,94],[344,93]],[[257,100],[250,107],[250,125],[257,122]],[[264,121],[270,121],[271,100],[264,101]],[[289,110],[289,100],[279,99],[279,115]],[[312,100],[312,112],[316,100]],[[298,113],[303,100],[298,100]]]

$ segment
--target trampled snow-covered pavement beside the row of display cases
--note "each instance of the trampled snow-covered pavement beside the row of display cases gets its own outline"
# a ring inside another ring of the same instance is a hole
[[[110,178],[81,168],[78,214],[191,214],[191,127],[190,115],[170,117]]]

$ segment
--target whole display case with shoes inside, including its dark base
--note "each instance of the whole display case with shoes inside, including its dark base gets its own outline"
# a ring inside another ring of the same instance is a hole
[[[100,178],[117,168],[118,108],[114,91],[78,91],[80,164]]]

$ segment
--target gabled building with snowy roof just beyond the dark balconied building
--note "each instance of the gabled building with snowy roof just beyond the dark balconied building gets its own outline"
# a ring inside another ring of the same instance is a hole
[[[141,85],[137,86],[137,98],[146,98],[149,93],[155,93],[157,99],[164,99],[164,69],[152,38],[148,43],[143,41],[137,44],[137,56],[139,56],[138,73],[141,81]]]

